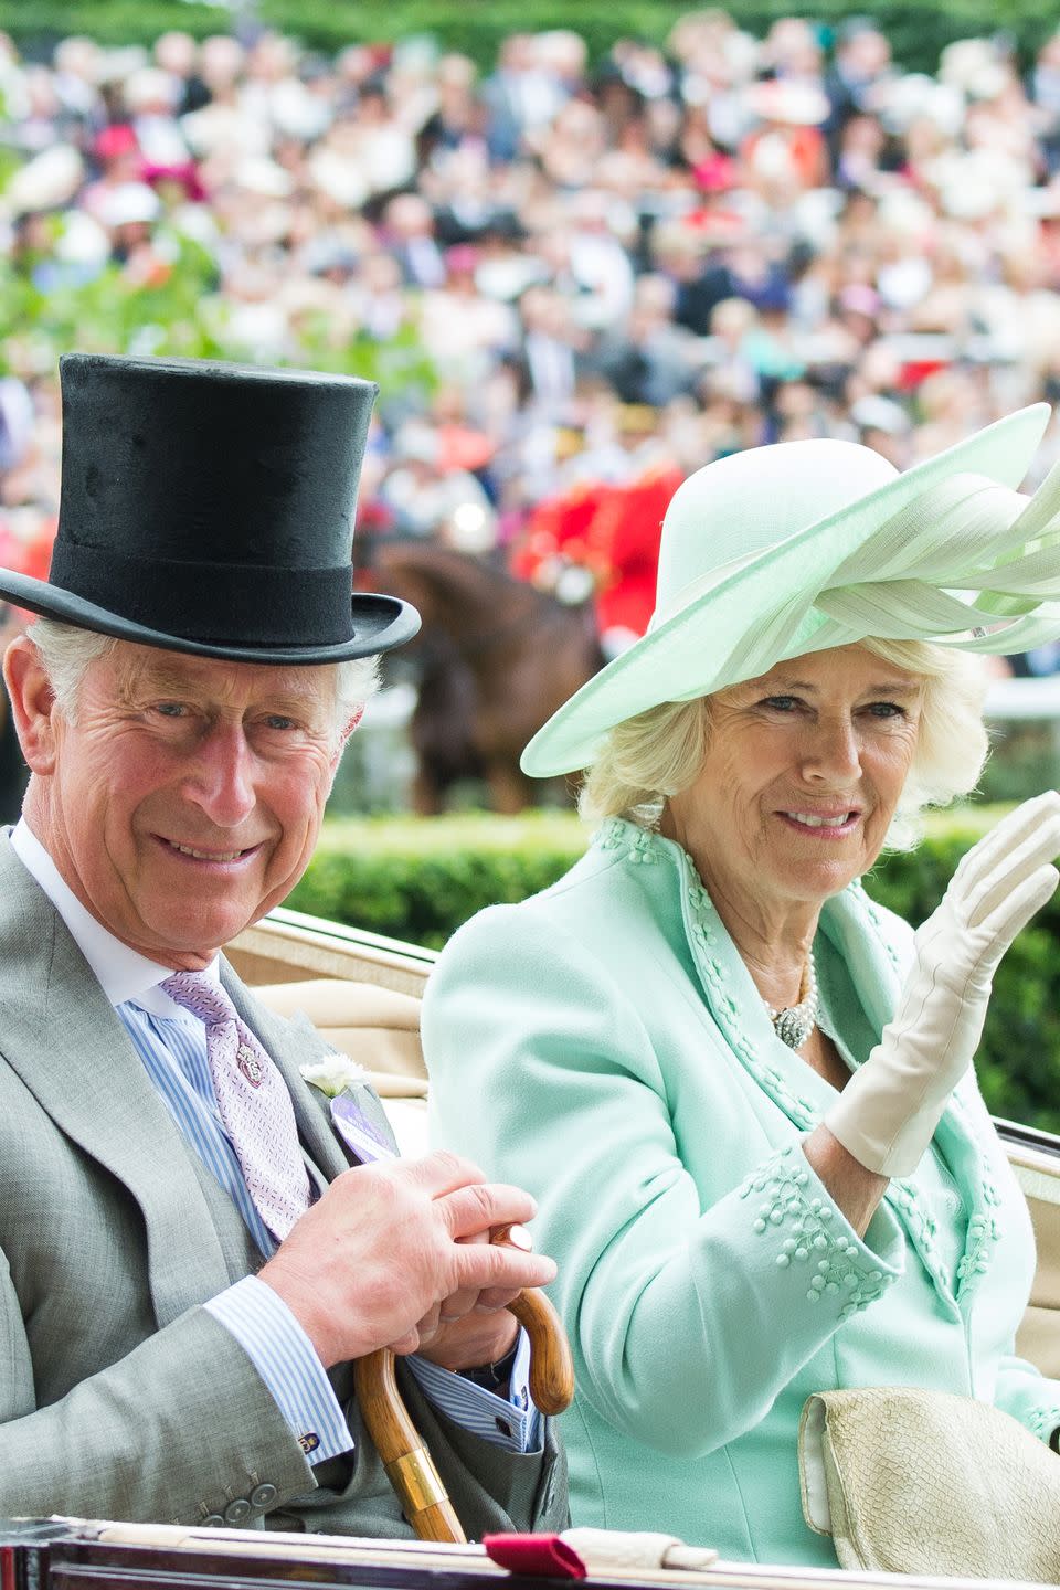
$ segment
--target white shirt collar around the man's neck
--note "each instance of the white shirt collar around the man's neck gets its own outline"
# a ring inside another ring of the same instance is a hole
[[[11,847],[67,924],[70,937],[111,1005],[132,1000],[156,1016],[184,1016],[180,1005],[159,987],[159,983],[172,976],[173,968],[148,960],[146,956],[124,944],[121,938],[114,938],[110,929],[103,927],[99,917],[81,905],[25,817],[19,819],[11,833]],[[205,976],[215,983],[221,981],[219,956],[215,956],[205,968]]]

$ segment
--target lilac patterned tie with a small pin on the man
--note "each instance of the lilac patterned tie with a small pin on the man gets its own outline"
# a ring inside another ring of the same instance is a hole
[[[280,1242],[310,1204],[294,1107],[283,1076],[219,983],[175,971],[162,989],[207,1024],[207,1062],[224,1130],[257,1213]]]

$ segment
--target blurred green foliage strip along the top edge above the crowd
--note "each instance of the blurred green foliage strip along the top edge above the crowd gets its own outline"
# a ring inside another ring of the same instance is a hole
[[[0,29],[22,48],[40,52],[65,33],[91,33],[108,45],[149,43],[168,27],[197,37],[226,32],[237,16],[253,17],[334,51],[354,41],[393,41],[431,33],[445,49],[461,49],[489,68],[499,41],[524,29],[569,27],[580,32],[593,60],[617,38],[663,43],[674,21],[698,5],[674,0],[256,0],[232,8],[184,0],[0,0]],[[895,56],[911,70],[933,72],[939,51],[954,38],[1009,32],[1025,57],[1057,25],[1041,0],[731,0],[725,6],[742,27],[763,35],[777,16],[810,16],[825,38],[845,16],[876,17]]]

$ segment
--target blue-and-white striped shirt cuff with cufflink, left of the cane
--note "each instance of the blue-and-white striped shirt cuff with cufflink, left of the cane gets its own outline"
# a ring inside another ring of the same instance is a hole
[[[203,1307],[240,1344],[308,1463],[350,1452],[353,1437],[327,1372],[272,1286],[246,1275]]]

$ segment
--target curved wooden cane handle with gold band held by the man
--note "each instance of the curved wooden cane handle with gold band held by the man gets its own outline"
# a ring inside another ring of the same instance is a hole
[[[504,1242],[505,1235],[507,1227],[499,1227],[489,1240]],[[537,1288],[521,1291],[512,1299],[509,1310],[529,1337],[529,1388],[534,1406],[542,1414],[563,1414],[574,1398],[574,1364],[559,1315]],[[353,1366],[353,1383],[366,1429],[416,1538],[466,1541],[434,1458],[397,1390],[391,1350],[381,1347],[377,1353],[359,1358]]]

